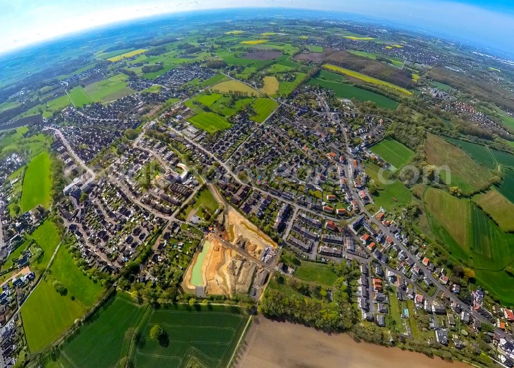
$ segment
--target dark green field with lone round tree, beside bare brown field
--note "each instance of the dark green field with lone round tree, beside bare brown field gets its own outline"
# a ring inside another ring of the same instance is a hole
[[[135,367],[205,366],[226,367],[248,321],[238,307],[169,305],[153,310],[143,328]],[[158,324],[168,340],[150,339],[150,328]]]

